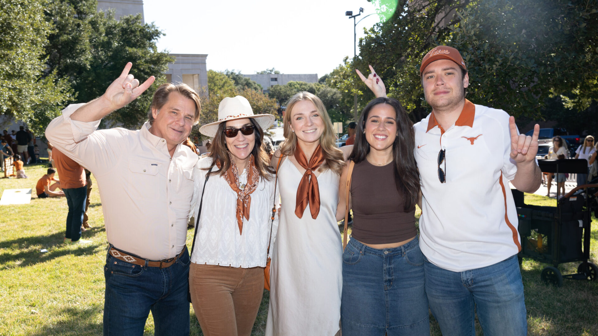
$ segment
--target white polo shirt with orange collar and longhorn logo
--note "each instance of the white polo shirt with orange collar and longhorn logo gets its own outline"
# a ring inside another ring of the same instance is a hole
[[[420,248],[426,258],[460,272],[520,251],[517,210],[508,185],[517,172],[509,157],[509,115],[465,99],[449,129],[443,130],[433,113],[414,129],[423,194]],[[446,183],[438,178],[440,149],[446,150],[440,165]]]

